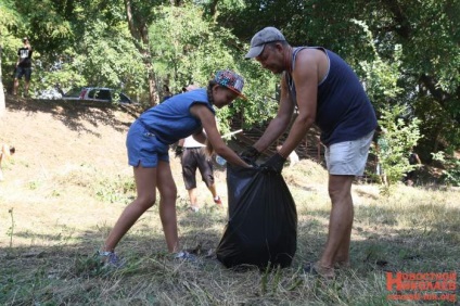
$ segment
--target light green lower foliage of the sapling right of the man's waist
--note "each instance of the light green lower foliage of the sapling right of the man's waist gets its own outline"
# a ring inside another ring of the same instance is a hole
[[[386,150],[380,150],[375,154],[384,169],[388,186],[397,183],[406,173],[417,167],[410,165],[408,158],[421,138],[420,120],[418,118],[405,120],[403,116],[407,114],[407,106],[396,105],[382,110],[382,117],[379,120],[382,128],[379,137],[386,143]]]

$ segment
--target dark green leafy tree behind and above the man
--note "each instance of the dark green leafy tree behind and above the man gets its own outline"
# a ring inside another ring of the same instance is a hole
[[[425,138],[420,148],[425,157],[443,148],[451,152],[460,146],[459,1],[237,2],[243,5],[218,1],[216,7],[216,1],[206,1],[208,8],[217,8],[217,21],[231,26],[242,41],[248,42],[265,26],[277,26],[293,46],[323,46],[335,51],[361,78],[369,72],[360,63],[376,63],[379,58],[392,62],[397,48],[397,85],[401,90],[386,103],[404,103],[423,120]],[[356,21],[367,25],[373,47]]]

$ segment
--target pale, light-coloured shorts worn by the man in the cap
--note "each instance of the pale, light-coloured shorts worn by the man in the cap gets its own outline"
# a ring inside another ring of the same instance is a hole
[[[325,148],[325,164],[330,175],[362,176],[374,131],[362,138],[331,144]]]

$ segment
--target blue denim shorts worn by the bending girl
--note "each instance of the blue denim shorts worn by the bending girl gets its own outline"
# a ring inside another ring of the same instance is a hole
[[[161,142],[139,120],[129,128],[126,148],[128,163],[133,167],[142,165],[144,168],[156,168],[158,161],[169,163],[169,145]]]

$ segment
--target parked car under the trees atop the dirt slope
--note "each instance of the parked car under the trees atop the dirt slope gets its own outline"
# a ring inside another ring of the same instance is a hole
[[[104,87],[84,87],[73,88],[67,91],[63,100],[85,100],[85,101],[100,101],[100,102],[118,102],[118,103],[132,103],[131,99],[124,92],[116,91],[112,88]]]

